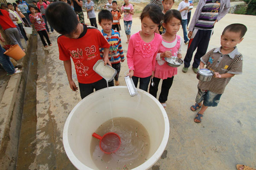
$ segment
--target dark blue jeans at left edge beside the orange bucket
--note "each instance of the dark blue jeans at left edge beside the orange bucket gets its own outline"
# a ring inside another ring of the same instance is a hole
[[[15,69],[14,66],[12,65],[12,62],[10,61],[9,56],[6,54],[3,54],[5,52],[5,49],[2,48],[0,45],[0,63],[3,66],[3,69],[8,73],[8,74],[14,74]]]

